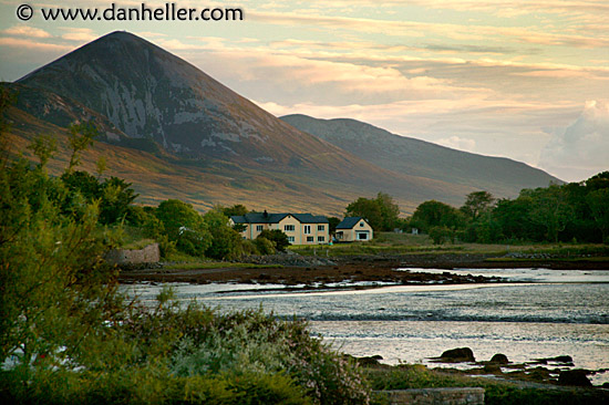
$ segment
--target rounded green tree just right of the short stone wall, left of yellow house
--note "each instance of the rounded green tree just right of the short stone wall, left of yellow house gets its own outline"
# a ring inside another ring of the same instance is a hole
[[[168,199],[158,205],[156,217],[163,222],[168,239],[183,252],[204,256],[211,245],[207,224],[192,205]]]

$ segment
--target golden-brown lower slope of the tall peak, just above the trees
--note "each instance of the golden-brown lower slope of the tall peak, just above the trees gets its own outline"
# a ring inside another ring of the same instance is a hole
[[[37,162],[27,148],[38,134],[53,134],[58,139],[58,153],[48,164],[51,174],[61,175],[68,167],[70,149],[68,131],[47,121],[39,120],[23,110],[11,106],[7,118],[12,123],[9,138],[12,156],[22,154]],[[289,178],[269,176],[267,173],[240,167],[200,167],[184,165],[180,160],[169,160],[148,152],[117,144],[95,142],[83,153],[82,166],[90,173],[96,172],[96,162],[103,156],[107,162],[104,176],[117,176],[133,183],[140,194],[141,204],[158,205],[168,198],[178,198],[193,204],[199,210],[207,210],[214,204],[245,204],[249,208],[264,210],[285,209],[285,201],[296,210],[312,211],[319,215],[342,212],[345,202],[353,195],[337,190],[330,199],[322,187],[306,186]],[[328,201],[313,205],[313,200]]]

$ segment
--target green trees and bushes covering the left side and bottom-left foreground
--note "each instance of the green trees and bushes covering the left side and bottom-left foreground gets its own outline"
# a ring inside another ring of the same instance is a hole
[[[202,217],[168,200],[134,208],[128,184],[75,170],[94,128],[71,126],[61,177],[54,143],[40,164],[9,158],[0,94],[0,403],[367,404],[357,366],[300,321],[182,305],[163,290],[151,307],[127,300],[104,262],[123,224],[165,237],[167,250],[225,257],[240,238],[220,209]],[[210,229],[211,228],[211,229]]]

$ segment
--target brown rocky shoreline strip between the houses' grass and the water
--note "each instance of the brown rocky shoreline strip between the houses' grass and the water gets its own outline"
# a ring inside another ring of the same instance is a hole
[[[248,267],[247,264],[251,264]],[[445,269],[446,272],[430,274],[416,271],[395,271],[406,269]],[[123,268],[120,281],[132,283],[152,282],[239,282],[273,283],[310,288],[323,288],[329,283],[383,282],[398,284],[430,283],[482,283],[502,282],[500,278],[482,276],[457,276],[448,270],[455,268],[547,268],[556,270],[598,270],[609,269],[609,261],[589,260],[589,258],[553,258],[550,256],[504,256],[495,257],[484,253],[412,253],[412,255],[374,255],[374,256],[300,256],[282,253],[272,256],[248,257],[231,267],[223,263],[218,268],[171,269],[171,266],[156,263]],[[317,285],[317,287],[316,287]]]

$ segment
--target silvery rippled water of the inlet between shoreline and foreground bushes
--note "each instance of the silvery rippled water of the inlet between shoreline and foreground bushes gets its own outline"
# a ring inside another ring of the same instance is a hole
[[[176,284],[176,291],[180,300],[196,299],[221,310],[262,304],[279,316],[307,319],[311,332],[337,349],[357,356],[380,354],[389,364],[437,365],[430,357],[468,346],[481,361],[496,353],[516,363],[570,355],[576,367],[609,368],[609,271],[452,272],[499,276],[515,282],[309,293],[268,284]],[[153,300],[159,288],[128,287],[143,300]],[[592,377],[593,384],[608,381],[609,373]]]

